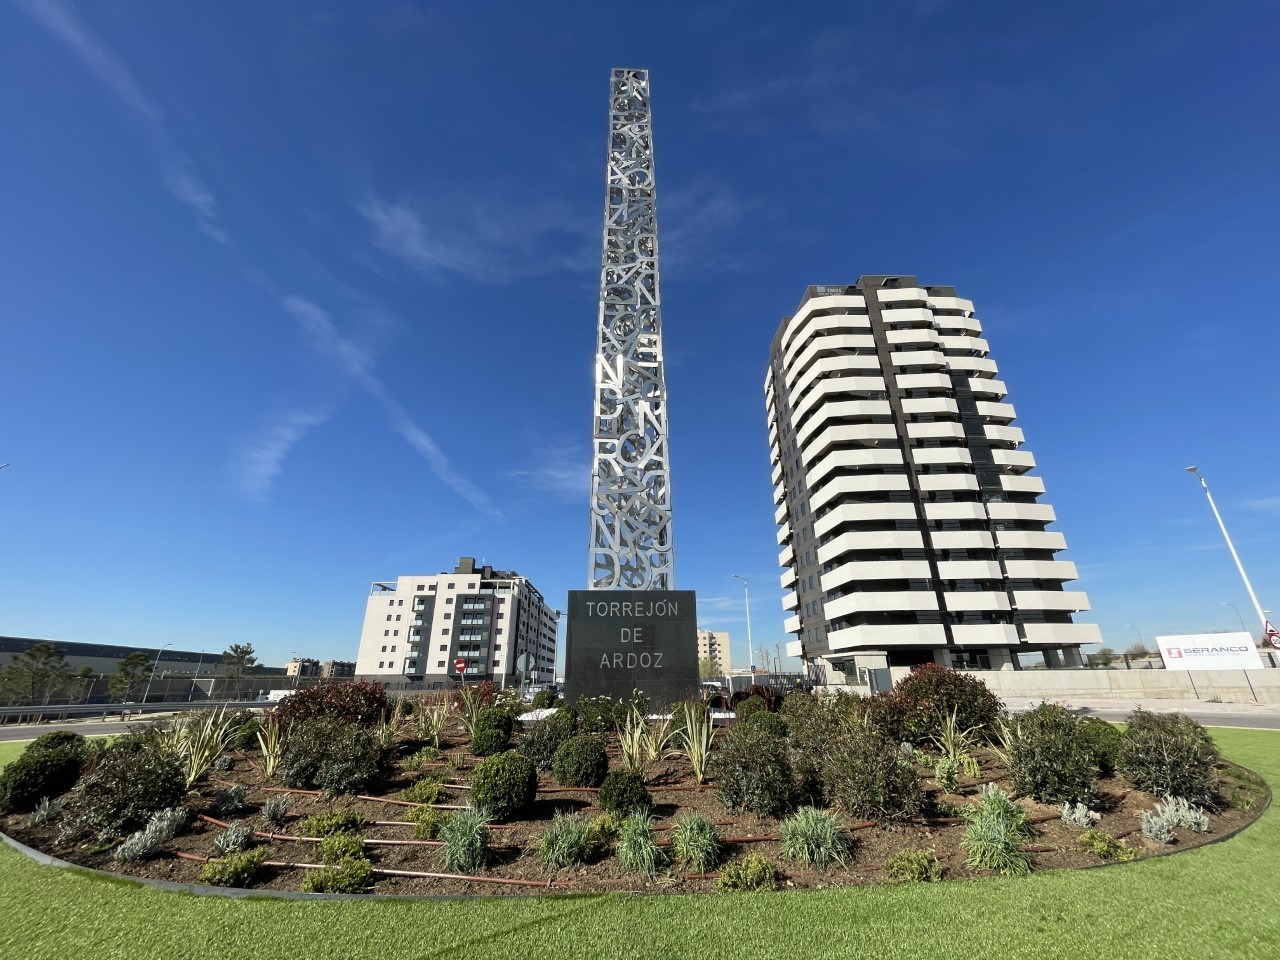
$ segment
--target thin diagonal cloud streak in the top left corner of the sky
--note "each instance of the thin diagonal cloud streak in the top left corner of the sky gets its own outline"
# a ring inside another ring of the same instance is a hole
[[[164,111],[146,95],[124,63],[84,26],[67,0],[15,0],[18,8],[63,44],[115,99],[142,122],[160,164],[161,180],[173,197],[196,216],[201,232],[228,243],[218,223],[218,204],[209,186],[192,172],[192,163],[174,142]]]

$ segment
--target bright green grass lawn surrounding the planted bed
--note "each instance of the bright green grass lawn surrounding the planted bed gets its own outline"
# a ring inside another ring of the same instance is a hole
[[[1213,730],[1280,782],[1280,732]],[[22,745],[0,745],[0,763]],[[0,849],[0,957],[1280,957],[1280,812],[1098,870],[805,893],[275,901],[164,893]]]

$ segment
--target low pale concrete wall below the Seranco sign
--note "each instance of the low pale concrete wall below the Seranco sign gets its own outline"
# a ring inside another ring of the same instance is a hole
[[[1280,669],[965,671],[1002,698],[1115,698],[1280,704]],[[1247,675],[1247,676],[1245,676]],[[895,680],[897,680],[895,677]],[[1252,684],[1252,691],[1251,691]]]

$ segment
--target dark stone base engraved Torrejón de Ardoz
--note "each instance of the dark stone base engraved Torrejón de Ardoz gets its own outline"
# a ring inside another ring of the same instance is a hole
[[[570,590],[564,699],[628,699],[654,707],[698,695],[698,604],[692,590]]]

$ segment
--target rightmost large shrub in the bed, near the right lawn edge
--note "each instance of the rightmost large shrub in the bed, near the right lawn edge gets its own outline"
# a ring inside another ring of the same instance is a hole
[[[1181,713],[1129,714],[1117,769],[1148,794],[1181,796],[1197,804],[1217,799],[1213,765],[1221,759],[1208,732]]]

